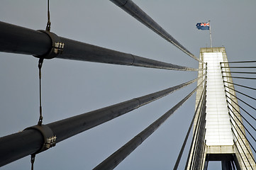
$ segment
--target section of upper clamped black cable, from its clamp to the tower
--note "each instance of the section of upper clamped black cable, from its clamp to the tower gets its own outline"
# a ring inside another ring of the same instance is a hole
[[[150,60],[145,57],[140,57],[125,52],[118,52],[116,50],[110,50],[96,45],[89,45],[84,42],[69,40],[67,38],[60,37],[60,39],[63,43],[65,43],[65,50],[62,51],[61,55],[57,55],[56,58],[156,69],[171,69],[180,71],[199,70],[166,62],[160,62],[157,60]]]

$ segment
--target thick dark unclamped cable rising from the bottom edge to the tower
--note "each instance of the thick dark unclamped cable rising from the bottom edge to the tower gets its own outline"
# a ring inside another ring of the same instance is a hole
[[[203,82],[204,81],[202,81],[201,84]],[[201,86],[201,84],[199,84],[199,86]],[[182,106],[182,104],[185,101],[187,101],[187,99],[190,96],[192,96],[192,94],[194,94],[194,92],[199,88],[199,86],[197,86],[196,89],[191,91],[190,94],[183,98],[182,101],[179,101],[179,103],[177,103],[174,107],[167,111],[167,113],[165,113],[160,118],[155,120],[155,122],[149,125],[148,128],[145,128],[145,130],[143,130],[138,135],[133,137],[133,139],[127,142],[126,145],[123,145],[123,147],[121,147],[116,152],[111,154],[111,156],[105,159],[104,162],[101,162],[101,164],[96,166],[94,170],[114,169],[116,166],[118,166],[118,164],[120,164],[123,161],[123,159],[125,159],[131,152],[133,152],[139,145],[141,145],[144,140],[146,140],[150,135],[152,135],[152,133],[155,132],[155,130],[157,130],[157,128],[159,128],[160,125],[162,125],[162,123],[164,123],[165,120],[167,120],[167,118],[169,118],[169,116],[172,115],[172,113],[174,113],[174,111],[176,111],[180,106]]]

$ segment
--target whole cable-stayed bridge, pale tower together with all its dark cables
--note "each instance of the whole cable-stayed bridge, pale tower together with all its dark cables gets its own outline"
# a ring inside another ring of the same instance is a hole
[[[90,111],[81,115],[75,115],[56,122],[43,124],[43,113],[41,108],[40,91],[40,118],[37,125],[30,126],[22,132],[17,132],[0,138],[0,166],[11,164],[18,159],[31,155],[31,169],[35,155],[47,152],[51,147],[57,147],[57,143],[69,137],[106,123],[109,120],[128,114],[134,109],[150,104],[159,98],[178,91],[179,89],[196,84],[196,88],[170,108],[160,118],[155,120],[148,128],[135,135],[123,147],[109,155],[94,169],[114,169],[123,159],[126,159],[137,147],[165,123],[172,118],[171,115],[185,103],[190,96],[196,94],[196,106],[193,111],[187,135],[177,155],[176,164],[173,169],[179,169],[184,147],[189,146],[187,163],[185,169],[207,169],[208,163],[212,161],[221,162],[222,169],[256,169],[255,137],[244,125],[244,122],[255,130],[252,125],[256,121],[255,114],[247,111],[256,108],[236,94],[240,94],[255,101],[256,98],[245,94],[240,89],[255,91],[253,86],[237,84],[235,79],[252,81],[255,78],[250,75],[250,69],[256,67],[256,61],[234,61],[229,62],[225,47],[204,47],[200,50],[200,57],[193,55],[186,47],[175,40],[159,26],[147,13],[131,0],[111,0],[113,4],[123,9],[136,20],[143,23],[160,37],[172,43],[193,60],[199,62],[199,68],[180,66],[177,64],[150,60],[147,57],[106,49],[85,42],[70,40],[60,37],[50,31],[50,11],[48,2],[48,24],[45,30],[31,30],[9,23],[0,22],[0,51],[22,55],[33,55],[37,57],[39,78],[41,79],[41,68],[44,60],[59,58],[65,60],[79,60],[86,62],[99,62],[107,64],[118,64],[134,67],[148,67],[155,69],[169,69],[184,72],[198,72],[198,77],[177,86],[169,87],[152,94],[131,98],[128,101],[116,103],[96,111]],[[247,71],[249,70],[249,71]],[[240,76],[243,74],[244,76]],[[249,75],[248,77],[246,75]],[[234,81],[233,81],[234,79]],[[251,83],[253,84],[253,83]],[[41,84],[40,84],[41,89]],[[241,105],[241,103],[243,103]],[[246,106],[246,108],[244,107]],[[243,106],[243,107],[242,107]],[[246,115],[246,116],[245,116]],[[249,116],[249,118],[248,118]],[[187,143],[189,134],[193,130],[191,143]],[[250,136],[248,140],[247,136]],[[132,157],[132,156],[131,156]],[[186,157],[186,155],[184,156]],[[40,161],[40,160],[38,160]],[[35,167],[36,169],[36,167]]]

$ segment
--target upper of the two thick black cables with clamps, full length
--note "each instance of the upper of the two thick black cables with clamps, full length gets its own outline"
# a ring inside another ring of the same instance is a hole
[[[54,43],[53,41],[56,41]],[[60,50],[54,45],[63,45]],[[157,69],[174,69],[183,71],[198,71],[199,69],[182,67],[166,62],[150,60],[144,57],[131,55],[124,52],[109,50],[104,47],[89,45],[84,42],[69,40],[58,37],[54,33],[47,31],[30,30],[9,23],[0,22],[0,51],[11,52],[24,55],[34,55],[37,57],[48,54],[54,50],[60,50],[53,55],[56,58],[67,60],[79,60],[87,62],[101,62],[108,64],[120,64],[136,67],[150,67]]]

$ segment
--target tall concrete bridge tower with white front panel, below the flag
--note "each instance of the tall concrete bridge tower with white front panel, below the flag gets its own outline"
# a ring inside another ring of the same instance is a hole
[[[194,133],[187,169],[207,169],[208,162],[221,161],[222,169],[256,169],[255,159],[245,137],[243,120],[235,95],[225,47],[201,48],[199,77],[207,81],[196,92],[196,107],[206,89],[194,120]],[[199,80],[198,83],[201,81]]]

